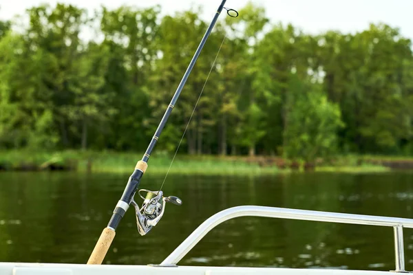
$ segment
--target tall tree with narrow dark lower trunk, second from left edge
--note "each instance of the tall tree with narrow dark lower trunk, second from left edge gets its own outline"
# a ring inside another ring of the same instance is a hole
[[[54,124],[63,146],[78,144],[80,127],[71,121],[76,94],[70,89],[76,79],[77,60],[81,54],[81,27],[87,22],[85,11],[73,5],[41,5],[28,10],[30,26],[25,33],[28,48],[45,55],[45,70],[39,75],[44,90],[41,101],[51,108]]]

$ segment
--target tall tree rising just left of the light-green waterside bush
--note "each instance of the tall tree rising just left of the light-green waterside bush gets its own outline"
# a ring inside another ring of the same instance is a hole
[[[282,133],[289,126],[288,115],[293,107],[288,100],[288,82],[291,74],[310,82],[308,73],[311,72],[309,60],[312,47],[312,39],[292,25],[273,25],[257,44],[253,87],[261,95],[261,120],[265,129],[262,144],[269,153],[281,153],[285,145]]]

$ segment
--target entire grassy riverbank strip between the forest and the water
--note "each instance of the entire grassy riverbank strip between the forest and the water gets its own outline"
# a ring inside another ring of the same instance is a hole
[[[142,153],[112,151],[27,150],[0,151],[0,170],[76,170],[92,173],[130,173]],[[165,174],[172,156],[155,153],[148,172]],[[178,155],[169,173],[188,175],[271,175],[291,171],[315,170],[330,173],[381,173],[392,168],[413,168],[413,157],[372,155],[339,156],[317,161],[309,169],[304,162],[277,157],[220,157],[213,155]]]

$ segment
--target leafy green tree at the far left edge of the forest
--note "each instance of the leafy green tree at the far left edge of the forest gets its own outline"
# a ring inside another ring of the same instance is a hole
[[[30,50],[22,36],[12,33],[0,41],[0,51],[0,140],[6,146],[53,148],[58,138],[42,81],[47,54]]]

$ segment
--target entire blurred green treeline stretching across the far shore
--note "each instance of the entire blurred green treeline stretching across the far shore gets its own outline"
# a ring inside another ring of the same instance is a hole
[[[413,154],[410,39],[389,25],[310,35],[248,4],[215,27],[156,151],[314,159]],[[0,146],[145,150],[209,24],[198,10],[73,5],[0,22]]]

